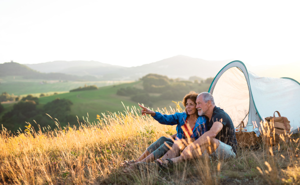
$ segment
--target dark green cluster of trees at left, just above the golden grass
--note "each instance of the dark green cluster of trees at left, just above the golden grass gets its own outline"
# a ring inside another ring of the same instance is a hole
[[[40,127],[50,126],[54,128],[54,118],[59,121],[61,127],[67,126],[68,123],[72,123],[73,125],[77,123],[77,118],[70,114],[70,106],[72,104],[70,100],[56,98],[41,106],[37,97],[27,95],[14,104],[12,110],[6,112],[1,117],[0,122],[4,128],[12,133],[17,132],[19,128],[23,129],[25,122],[29,122],[33,127],[35,121]],[[50,115],[53,119],[46,114]],[[37,129],[37,125],[35,128]]]

